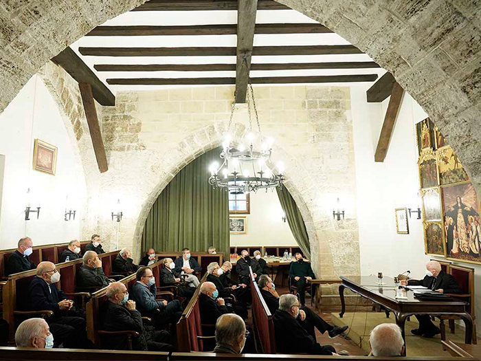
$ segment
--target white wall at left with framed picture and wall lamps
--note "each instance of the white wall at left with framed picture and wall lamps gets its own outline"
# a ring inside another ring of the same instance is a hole
[[[56,175],[33,170],[35,138],[58,147]],[[38,76],[29,80],[0,115],[0,153],[5,155],[1,248],[15,248],[25,235],[32,237],[34,245],[80,237],[86,197],[80,155],[56,103]],[[31,206],[41,206],[39,219],[31,214],[31,220],[25,221],[27,188],[31,190]],[[66,206],[76,209],[75,221],[64,221]]]

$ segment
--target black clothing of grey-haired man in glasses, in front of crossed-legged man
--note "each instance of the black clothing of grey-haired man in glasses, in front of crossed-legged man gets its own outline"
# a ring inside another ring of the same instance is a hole
[[[321,346],[313,336],[302,327],[300,322],[287,311],[278,309],[272,317],[276,334],[278,353],[309,353],[312,355],[332,355],[334,347]]]

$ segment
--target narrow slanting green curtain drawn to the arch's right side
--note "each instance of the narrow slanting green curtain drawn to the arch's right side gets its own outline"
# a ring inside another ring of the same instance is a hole
[[[304,224],[304,219],[300,214],[298,206],[295,204],[291,193],[286,187],[276,187],[277,195],[279,197],[280,205],[287,218],[287,223],[289,223],[289,228],[298,242],[304,257],[311,259],[311,247],[309,246],[309,237],[307,236],[306,225]]]

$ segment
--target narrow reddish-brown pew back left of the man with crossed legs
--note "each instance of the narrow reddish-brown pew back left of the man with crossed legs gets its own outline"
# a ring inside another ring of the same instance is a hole
[[[271,311],[265,303],[260,289],[254,281],[254,274],[249,267],[250,277],[249,284],[252,296],[252,321],[254,322],[254,333],[259,341],[262,353],[276,353],[276,336],[274,335],[274,322],[272,320]]]

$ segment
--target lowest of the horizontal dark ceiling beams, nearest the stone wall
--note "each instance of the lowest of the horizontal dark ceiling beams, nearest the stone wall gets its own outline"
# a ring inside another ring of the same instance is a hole
[[[372,82],[377,74],[328,76],[267,76],[251,78],[252,84],[353,83]],[[236,78],[111,78],[110,85],[231,85]]]

